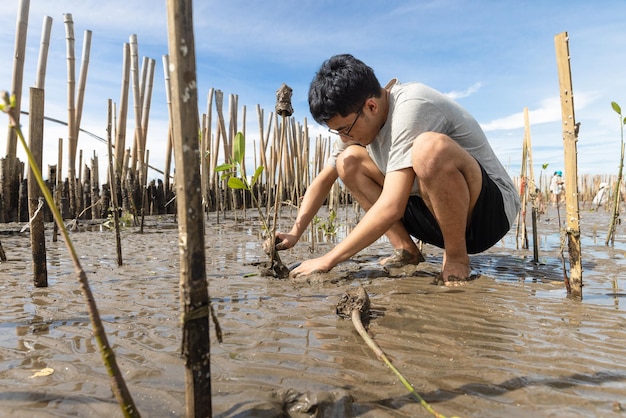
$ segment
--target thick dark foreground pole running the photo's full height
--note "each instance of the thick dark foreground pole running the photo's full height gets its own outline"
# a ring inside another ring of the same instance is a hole
[[[211,361],[192,0],[168,0],[187,416],[210,417]]]

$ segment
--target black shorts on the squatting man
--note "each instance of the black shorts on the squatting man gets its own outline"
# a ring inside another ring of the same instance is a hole
[[[476,254],[491,248],[511,229],[500,189],[482,167],[480,170],[483,174],[483,184],[465,231],[468,254]],[[402,222],[413,237],[445,248],[439,224],[420,196],[409,197]]]

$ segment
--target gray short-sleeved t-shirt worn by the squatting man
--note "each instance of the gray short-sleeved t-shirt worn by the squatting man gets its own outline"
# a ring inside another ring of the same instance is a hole
[[[392,80],[389,90],[387,121],[367,151],[383,173],[412,167],[413,140],[424,132],[438,132],[455,140],[485,169],[500,189],[509,225],[520,209],[517,190],[498,160],[478,122],[446,95],[421,83],[401,84]],[[347,147],[341,139],[328,164],[335,167],[337,156]],[[411,194],[419,195],[417,182]]]

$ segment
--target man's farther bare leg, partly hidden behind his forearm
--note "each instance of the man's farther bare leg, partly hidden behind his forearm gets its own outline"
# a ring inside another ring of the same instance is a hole
[[[365,211],[368,211],[382,192],[385,176],[372,161],[367,150],[359,145],[348,147],[337,159],[337,171],[346,187],[350,189],[352,196]],[[405,250],[410,255],[418,255],[423,260],[419,249],[401,221],[395,222],[385,236],[396,251]],[[381,263],[384,264],[386,260],[382,260]]]

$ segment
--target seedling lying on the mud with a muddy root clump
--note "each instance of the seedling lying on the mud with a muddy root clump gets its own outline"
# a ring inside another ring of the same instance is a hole
[[[354,328],[359,333],[361,338],[365,341],[367,346],[376,354],[376,356],[381,359],[387,367],[391,369],[391,371],[400,379],[400,382],[404,385],[405,388],[413,395],[413,397],[422,405],[428,412],[433,414],[438,418],[445,418],[444,415],[441,415],[437,411],[435,411],[429,404],[422,398],[413,388],[413,385],[409,383],[408,380],[405,379],[404,376],[398,371],[398,369],[391,363],[391,360],[385,355],[385,352],[376,344],[376,341],[372,339],[367,333],[367,330],[363,326],[362,317],[369,317],[369,309],[370,309],[370,300],[367,296],[367,292],[363,288],[363,286],[359,286],[354,291],[346,292],[341,301],[337,304],[337,315],[341,317],[349,317],[352,319],[352,324],[354,324]]]

